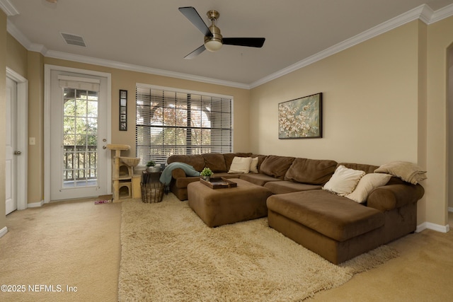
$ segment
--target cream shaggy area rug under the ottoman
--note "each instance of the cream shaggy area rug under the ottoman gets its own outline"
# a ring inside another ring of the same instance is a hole
[[[333,265],[266,218],[209,228],[173,194],[122,202],[120,301],[302,301],[398,253],[383,245]]]

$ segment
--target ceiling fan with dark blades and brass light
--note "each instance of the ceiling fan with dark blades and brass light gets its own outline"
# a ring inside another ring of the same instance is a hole
[[[215,21],[219,18],[220,14],[217,11],[208,11],[207,17],[212,22],[210,27],[207,27],[206,23],[197,13],[197,10],[192,6],[178,8],[181,13],[188,18],[189,21],[195,25],[203,35],[205,35],[205,44],[198,47],[193,52],[190,52],[184,59],[193,59],[198,54],[201,54],[205,50],[210,52],[217,52],[222,48],[222,45],[238,45],[247,47],[263,47],[264,37],[222,37],[219,28],[215,25]]]

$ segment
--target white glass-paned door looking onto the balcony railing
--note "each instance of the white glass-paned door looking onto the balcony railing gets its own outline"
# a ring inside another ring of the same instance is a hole
[[[50,200],[108,194],[107,79],[50,74]]]

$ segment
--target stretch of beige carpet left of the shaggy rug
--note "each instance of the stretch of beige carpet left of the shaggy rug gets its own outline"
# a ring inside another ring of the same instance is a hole
[[[21,291],[0,301],[117,301],[120,208],[58,202],[6,216],[0,285]]]

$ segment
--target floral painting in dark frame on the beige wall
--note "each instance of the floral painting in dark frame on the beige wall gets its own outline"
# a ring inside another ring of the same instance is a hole
[[[307,95],[278,104],[278,138],[323,137],[323,93]]]

